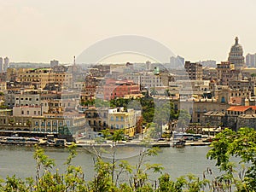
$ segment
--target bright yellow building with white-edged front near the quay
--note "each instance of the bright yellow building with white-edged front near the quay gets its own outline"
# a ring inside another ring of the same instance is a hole
[[[108,126],[110,131],[124,129],[125,135],[133,137],[136,128],[136,113],[133,108],[108,109]]]

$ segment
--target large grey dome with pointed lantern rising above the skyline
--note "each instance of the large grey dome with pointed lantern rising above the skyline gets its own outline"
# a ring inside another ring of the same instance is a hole
[[[228,61],[234,64],[236,70],[246,67],[244,62],[243,50],[241,44],[238,44],[238,38],[235,38],[235,44],[231,47]]]

